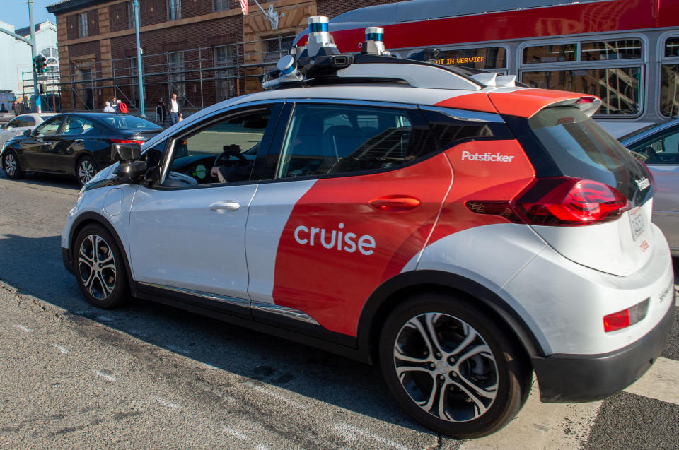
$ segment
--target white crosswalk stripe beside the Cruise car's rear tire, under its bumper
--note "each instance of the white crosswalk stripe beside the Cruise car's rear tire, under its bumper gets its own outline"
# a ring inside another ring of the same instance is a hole
[[[516,419],[497,433],[465,442],[460,450],[578,449],[586,441],[601,402],[540,403],[538,384]]]

